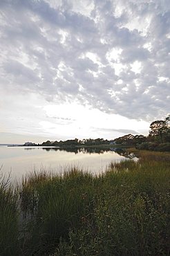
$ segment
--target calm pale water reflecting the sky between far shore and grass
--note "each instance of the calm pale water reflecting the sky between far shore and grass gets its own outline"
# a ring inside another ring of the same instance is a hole
[[[114,149],[115,150],[115,149]],[[113,162],[120,162],[132,155],[119,149],[119,154],[110,149],[59,149],[54,147],[7,147],[0,146],[0,167],[5,175],[11,173],[12,180],[34,170],[62,173],[70,167],[79,167],[92,174],[100,174]]]

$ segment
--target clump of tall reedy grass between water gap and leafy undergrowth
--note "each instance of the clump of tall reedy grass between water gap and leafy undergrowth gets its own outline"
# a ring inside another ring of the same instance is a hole
[[[69,228],[79,226],[92,194],[93,177],[75,168],[63,176],[34,173],[26,178],[20,196],[28,219],[28,255],[44,255],[60,237],[67,238]]]

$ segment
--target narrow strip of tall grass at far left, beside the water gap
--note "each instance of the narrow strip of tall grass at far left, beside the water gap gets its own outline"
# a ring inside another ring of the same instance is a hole
[[[10,186],[10,177],[0,177],[0,254],[19,255],[19,214],[17,193]]]

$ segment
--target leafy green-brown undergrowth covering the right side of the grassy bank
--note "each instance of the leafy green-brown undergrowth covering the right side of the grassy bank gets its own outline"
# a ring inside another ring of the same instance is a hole
[[[55,256],[169,255],[169,170],[139,162],[112,165],[100,177],[93,214],[60,241]]]

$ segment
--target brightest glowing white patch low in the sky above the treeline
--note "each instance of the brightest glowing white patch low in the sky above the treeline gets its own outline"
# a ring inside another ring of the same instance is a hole
[[[107,136],[113,138],[113,131],[115,130],[117,133],[123,134],[126,130],[130,130],[133,127],[132,132],[138,134],[141,129],[145,133],[148,129],[148,123],[142,120],[128,120],[122,116],[103,113],[98,109],[91,109],[89,106],[83,107],[76,102],[72,102],[72,104],[47,105],[44,107],[44,111],[51,120],[50,122],[43,121],[41,125],[47,133],[53,132],[54,135],[58,131],[61,133],[62,130],[62,136],[64,136],[64,134],[66,135],[71,130],[73,138],[74,136],[76,137],[76,134],[79,135],[79,138],[92,135],[97,138],[101,131],[107,130]],[[121,128],[124,127],[125,123],[126,129],[123,132]],[[62,129],[59,129],[60,126],[62,126]]]

